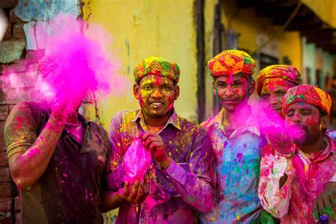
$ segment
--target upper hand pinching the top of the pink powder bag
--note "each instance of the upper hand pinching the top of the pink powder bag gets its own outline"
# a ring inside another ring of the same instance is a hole
[[[161,136],[148,131],[142,135],[142,141],[145,147],[150,150],[152,157],[159,163],[162,169],[167,169],[172,163],[172,159],[169,158],[164,150],[164,144]]]

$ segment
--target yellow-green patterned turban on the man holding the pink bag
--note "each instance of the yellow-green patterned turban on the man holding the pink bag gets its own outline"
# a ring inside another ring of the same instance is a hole
[[[155,74],[173,79],[174,84],[179,82],[179,66],[175,62],[168,62],[162,57],[151,56],[142,60],[134,69],[135,82],[143,77]]]

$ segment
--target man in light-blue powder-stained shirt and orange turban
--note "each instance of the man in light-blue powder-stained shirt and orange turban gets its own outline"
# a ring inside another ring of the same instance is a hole
[[[252,57],[240,50],[225,50],[208,62],[222,109],[201,124],[218,160],[215,206],[201,214],[201,223],[252,223],[266,215],[257,192],[262,140],[248,103],[255,88],[254,67]]]

